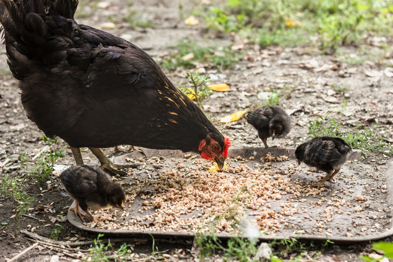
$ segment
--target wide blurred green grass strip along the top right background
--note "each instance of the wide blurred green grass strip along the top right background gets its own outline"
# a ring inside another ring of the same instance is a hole
[[[322,49],[392,32],[392,0],[227,0],[202,12],[209,30],[236,32],[261,46]]]

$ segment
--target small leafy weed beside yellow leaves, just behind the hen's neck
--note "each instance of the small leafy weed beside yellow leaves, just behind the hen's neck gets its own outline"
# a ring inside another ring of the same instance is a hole
[[[185,76],[187,76],[187,78],[191,81],[191,85],[182,87],[180,90],[189,98],[195,99],[198,107],[202,108],[202,104],[204,103],[205,99],[214,93],[207,85],[210,77],[201,76],[199,72],[191,73],[190,71],[187,71]]]

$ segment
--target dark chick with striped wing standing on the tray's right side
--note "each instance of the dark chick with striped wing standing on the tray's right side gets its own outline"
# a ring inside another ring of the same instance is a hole
[[[325,185],[326,181],[333,180],[334,175],[340,171],[341,166],[347,161],[351,151],[351,146],[341,138],[315,137],[298,146],[295,155],[298,164],[303,161],[308,166],[327,173],[322,181],[312,185],[319,189]]]

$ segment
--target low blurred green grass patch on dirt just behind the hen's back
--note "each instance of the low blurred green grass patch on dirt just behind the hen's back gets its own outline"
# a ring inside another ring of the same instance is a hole
[[[195,62],[208,62],[220,69],[229,69],[239,59],[235,52],[228,47],[200,46],[196,41],[182,39],[176,46],[169,49],[176,50],[163,57],[159,63],[162,68],[174,70],[178,67],[193,68]],[[192,59],[183,59],[184,55],[193,54]]]

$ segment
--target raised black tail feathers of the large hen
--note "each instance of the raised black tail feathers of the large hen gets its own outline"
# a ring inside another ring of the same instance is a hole
[[[28,76],[34,63],[65,59],[67,39],[77,26],[73,21],[77,5],[78,0],[0,0],[0,33],[16,79]]]

